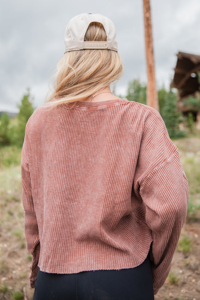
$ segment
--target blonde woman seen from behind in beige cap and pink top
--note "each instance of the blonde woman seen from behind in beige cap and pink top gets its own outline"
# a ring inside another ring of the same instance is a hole
[[[154,299],[186,218],[178,150],[156,110],[110,92],[122,61],[108,18],[74,17],[65,45],[22,149],[34,299]]]

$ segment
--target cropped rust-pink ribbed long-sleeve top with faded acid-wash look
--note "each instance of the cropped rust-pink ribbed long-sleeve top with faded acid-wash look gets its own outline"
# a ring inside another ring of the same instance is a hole
[[[38,266],[126,269],[150,250],[157,292],[186,219],[188,183],[156,110],[123,99],[41,106],[21,165],[32,287]]]

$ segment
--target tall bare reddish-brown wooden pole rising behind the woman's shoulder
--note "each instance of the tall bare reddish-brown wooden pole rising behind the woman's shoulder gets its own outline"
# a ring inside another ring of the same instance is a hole
[[[146,46],[146,66],[147,66],[147,79],[148,79],[147,91],[146,91],[146,104],[159,111],[158,93],[156,90],[156,81],[155,81],[150,0],[143,0],[143,9],[144,9],[144,28],[145,28],[145,46]]]

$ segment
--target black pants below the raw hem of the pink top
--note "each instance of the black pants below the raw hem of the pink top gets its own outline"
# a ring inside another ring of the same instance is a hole
[[[154,300],[149,255],[132,269],[54,274],[38,271],[33,300]]]

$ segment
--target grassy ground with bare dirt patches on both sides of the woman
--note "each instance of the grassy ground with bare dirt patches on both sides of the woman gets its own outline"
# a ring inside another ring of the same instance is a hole
[[[196,237],[200,209],[200,137],[187,137],[174,143],[179,149],[190,189],[187,222],[175,254],[176,259],[182,259],[181,271],[185,270],[187,274],[193,257],[200,253]],[[31,299],[34,291],[29,288],[28,281],[31,255],[26,250],[24,236],[20,160],[21,149],[15,146],[0,148],[0,300],[24,299],[24,296]],[[195,272],[198,277],[199,267],[196,267]],[[184,282],[181,274],[175,261],[168,280],[155,299],[200,299],[200,294],[199,298],[196,296],[200,287],[194,287],[192,296],[181,292]],[[194,284],[198,282],[196,278],[193,280]],[[184,288],[189,290],[186,285]]]

